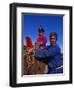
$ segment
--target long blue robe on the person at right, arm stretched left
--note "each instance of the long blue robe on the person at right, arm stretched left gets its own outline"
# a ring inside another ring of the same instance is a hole
[[[48,66],[52,68],[52,71],[49,71],[48,73],[63,73],[63,67],[56,69],[57,67],[63,65],[63,57],[61,56],[60,47],[57,44],[53,46],[51,45],[43,50],[37,49],[35,51],[35,56],[38,58],[46,58],[51,56],[52,60],[49,60]]]

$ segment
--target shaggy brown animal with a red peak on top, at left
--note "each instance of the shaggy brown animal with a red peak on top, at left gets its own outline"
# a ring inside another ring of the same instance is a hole
[[[48,65],[35,58],[35,50],[33,49],[31,53],[28,53],[33,48],[31,38],[27,37],[26,42],[23,55],[23,75],[47,74]]]

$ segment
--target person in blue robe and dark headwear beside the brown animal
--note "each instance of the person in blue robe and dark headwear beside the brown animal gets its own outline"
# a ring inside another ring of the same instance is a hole
[[[49,74],[63,73],[63,58],[61,56],[61,50],[57,44],[57,34],[52,32],[49,36],[50,46],[43,51],[36,51],[36,58],[41,61],[47,62],[49,66]]]

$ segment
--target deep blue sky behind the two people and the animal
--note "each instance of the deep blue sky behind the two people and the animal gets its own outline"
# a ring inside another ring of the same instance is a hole
[[[23,15],[23,43],[26,44],[26,36],[30,36],[33,44],[39,35],[38,29],[42,25],[45,29],[45,36],[47,37],[47,45],[50,45],[49,34],[56,32],[58,35],[57,43],[63,50],[63,16],[60,15]]]

